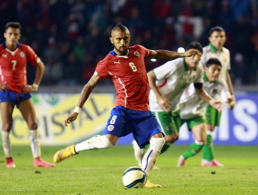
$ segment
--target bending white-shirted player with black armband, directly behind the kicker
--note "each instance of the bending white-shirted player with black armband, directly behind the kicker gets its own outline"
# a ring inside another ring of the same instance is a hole
[[[202,54],[202,45],[199,42],[191,42],[188,49],[197,49]],[[183,59],[168,61],[164,65],[148,72],[151,111],[161,125],[165,134],[165,145],[161,153],[179,138],[181,119],[179,116],[180,97],[190,84],[194,83],[197,94],[202,100],[211,104],[212,107],[221,110],[222,104],[215,101],[205,93],[202,88],[204,68],[200,63],[201,56],[194,55]],[[135,158],[140,165],[143,150],[139,149],[136,141],[132,141],[135,150]]]

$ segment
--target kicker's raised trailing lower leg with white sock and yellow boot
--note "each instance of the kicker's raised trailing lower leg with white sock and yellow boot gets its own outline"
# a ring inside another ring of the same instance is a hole
[[[109,138],[107,138],[107,136],[96,135],[90,139],[82,141],[81,143],[77,143],[76,145],[68,146],[62,150],[57,151],[54,154],[54,162],[61,162],[63,159],[72,157],[73,155],[76,155],[83,150],[97,150],[101,148],[110,148],[112,146],[113,144]]]

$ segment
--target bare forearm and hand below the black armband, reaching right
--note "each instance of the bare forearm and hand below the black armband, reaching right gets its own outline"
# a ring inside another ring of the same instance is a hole
[[[204,91],[203,88],[195,88],[195,91],[199,98],[210,104],[211,107],[217,109],[218,111],[223,111],[224,105],[222,104],[222,102],[216,101],[213,98],[211,98],[211,96],[208,95],[208,93],[206,93],[206,91]]]

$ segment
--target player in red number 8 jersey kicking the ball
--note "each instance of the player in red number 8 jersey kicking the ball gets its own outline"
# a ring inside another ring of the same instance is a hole
[[[94,136],[73,146],[59,150],[54,155],[54,162],[60,162],[82,150],[110,148],[119,137],[132,133],[140,148],[150,143],[142,160],[142,170],[149,176],[160,150],[165,143],[160,125],[149,109],[149,83],[146,75],[145,59],[176,59],[199,54],[196,49],[185,53],[165,50],[150,50],[140,45],[130,45],[130,32],[123,24],[116,24],[112,29],[110,42],[114,49],[105,59],[98,62],[96,71],[82,89],[77,107],[64,121],[64,125],[76,120],[79,111],[89,98],[93,88],[101,79],[110,78],[116,88],[116,100],[111,116],[107,121],[102,136]],[[147,180],[144,187],[160,187]]]

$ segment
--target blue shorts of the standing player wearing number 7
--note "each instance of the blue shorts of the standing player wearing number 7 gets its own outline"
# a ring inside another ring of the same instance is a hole
[[[28,100],[31,98],[31,93],[17,93],[13,91],[0,91],[0,102],[13,102],[18,106],[22,100]]]

